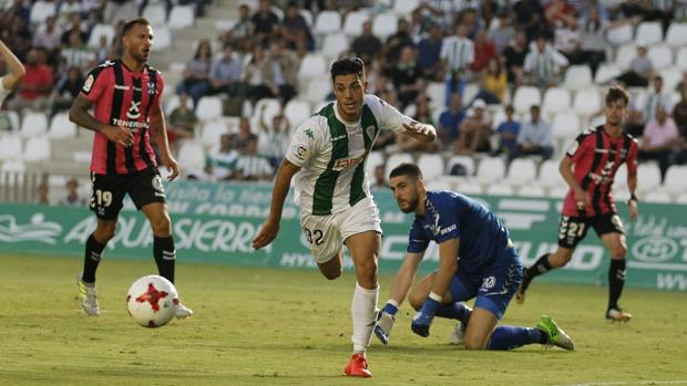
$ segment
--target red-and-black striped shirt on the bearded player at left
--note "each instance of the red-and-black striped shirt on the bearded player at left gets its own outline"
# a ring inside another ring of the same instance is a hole
[[[93,103],[94,117],[101,123],[129,128],[133,145],[124,147],[95,133],[91,170],[96,174],[130,174],[155,167],[148,127],[151,107],[160,104],[164,79],[145,65],[140,73],[121,60],[105,62],[93,69],[81,94]]]

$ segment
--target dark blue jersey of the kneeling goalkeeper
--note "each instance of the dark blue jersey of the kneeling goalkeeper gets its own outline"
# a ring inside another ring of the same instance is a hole
[[[424,216],[416,216],[410,228],[408,252],[422,252],[430,241],[460,239],[459,267],[466,272],[506,259],[509,231],[482,204],[454,191],[428,191]]]

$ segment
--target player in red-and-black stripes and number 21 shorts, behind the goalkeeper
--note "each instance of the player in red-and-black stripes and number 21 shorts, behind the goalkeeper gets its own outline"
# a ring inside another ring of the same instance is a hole
[[[571,145],[561,160],[561,175],[571,187],[563,202],[558,227],[558,249],[542,255],[524,274],[515,298],[525,299],[525,291],[535,277],[554,268],[563,267],[573,257],[580,241],[589,227],[611,252],[608,270],[608,307],[606,319],[627,322],[632,315],[618,306],[625,284],[625,253],[627,243],[623,221],[616,213],[611,188],[616,170],[627,165],[627,201],[629,218],[637,217],[637,140],[623,133],[623,118],[627,112],[628,96],[625,90],[613,86],[605,97],[606,123],[591,127]]]

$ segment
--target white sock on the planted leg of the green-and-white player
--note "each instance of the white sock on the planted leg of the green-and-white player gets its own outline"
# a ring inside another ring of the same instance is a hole
[[[350,305],[353,319],[353,354],[365,354],[372,340],[375,330],[375,314],[377,299],[379,298],[379,284],[375,290],[366,290],[356,282],[353,300]]]

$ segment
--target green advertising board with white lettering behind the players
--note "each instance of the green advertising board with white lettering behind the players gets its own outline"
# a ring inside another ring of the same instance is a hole
[[[252,267],[311,268],[307,241],[300,232],[298,208],[288,200],[279,237],[266,249],[254,251],[250,241],[269,208],[270,186],[178,181],[168,189],[170,208],[180,261]],[[401,213],[390,192],[375,191],[384,237],[380,270],[393,272],[406,251],[411,216]],[[478,197],[503,219],[525,265],[556,247],[560,200]],[[624,206],[621,215],[627,218]],[[628,285],[687,291],[687,226],[673,205],[642,204],[637,221],[625,221],[628,237]],[[0,205],[0,252],[80,257],[95,228],[84,209],[38,205]],[[296,242],[295,242],[296,241]],[[123,210],[107,259],[150,259],[152,232],[145,218]],[[541,278],[542,281],[603,284],[608,254],[593,232],[578,247],[571,263]],[[432,243],[422,271],[437,267]],[[349,259],[346,260],[351,267]]]

